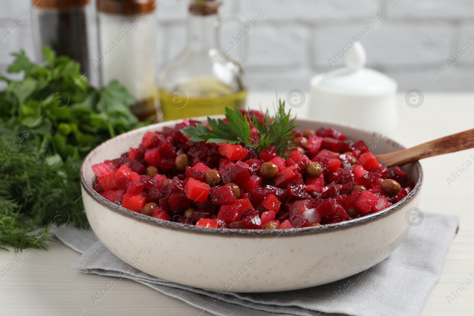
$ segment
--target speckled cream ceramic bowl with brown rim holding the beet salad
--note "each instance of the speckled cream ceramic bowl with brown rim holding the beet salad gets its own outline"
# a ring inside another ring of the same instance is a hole
[[[146,126],[100,144],[81,166],[82,199],[94,233],[115,255],[150,275],[179,284],[229,292],[303,289],[354,275],[389,256],[408,234],[406,214],[418,207],[423,172],[418,162],[403,166],[414,189],[381,212],[350,221],[283,230],[217,229],[182,225],[122,208],[93,189],[91,166],[137,146],[147,131],[179,121]],[[334,127],[363,139],[374,153],[400,144],[355,127],[297,120],[301,129]],[[377,141],[375,141],[377,139]]]

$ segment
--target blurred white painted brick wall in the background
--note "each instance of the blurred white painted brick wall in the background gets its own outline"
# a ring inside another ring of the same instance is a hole
[[[400,91],[470,91],[474,84],[474,47],[450,68],[447,58],[474,41],[474,0],[222,0],[221,12],[265,18],[249,35],[245,65],[250,90],[309,88],[310,77],[330,70],[328,58],[381,11],[384,17],[362,39],[368,65],[388,72]],[[30,0],[0,0],[0,31]],[[182,49],[186,36],[186,1],[159,0],[157,69]],[[240,30],[226,23],[226,34]],[[9,53],[25,49],[33,55],[32,19],[0,44],[0,71],[11,62]],[[223,42],[227,43],[226,37]],[[337,66],[341,66],[337,63]],[[438,74],[441,75],[433,81]],[[433,81],[433,82],[432,82]]]

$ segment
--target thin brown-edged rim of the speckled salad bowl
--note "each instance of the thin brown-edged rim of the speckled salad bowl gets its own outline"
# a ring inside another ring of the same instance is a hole
[[[222,117],[222,116],[214,116],[214,117]],[[206,118],[206,117],[199,117],[198,120],[203,119],[203,118]],[[319,119],[298,119],[297,118],[297,121],[298,120],[309,121],[309,122],[319,122],[323,126],[325,126],[325,124],[329,126],[336,126],[335,127],[336,129],[337,129],[337,126],[349,127],[349,128],[357,129],[365,133],[369,133],[369,134],[374,133],[373,131],[366,130],[366,129],[356,127],[356,126],[351,126],[349,124],[340,124],[340,123],[329,122],[329,121],[324,121],[323,123]],[[267,230],[267,229],[229,229],[229,228],[200,227],[200,226],[195,226],[195,225],[185,225],[181,223],[167,221],[164,219],[146,216],[146,215],[134,212],[132,210],[129,210],[127,208],[123,208],[122,206],[119,206],[113,202],[110,202],[108,199],[105,199],[99,193],[97,193],[86,180],[85,164],[91,160],[92,156],[100,152],[103,148],[106,148],[110,143],[116,141],[118,138],[125,138],[129,135],[135,135],[141,131],[148,132],[154,129],[159,129],[165,125],[172,125],[172,124],[176,124],[180,122],[182,122],[182,120],[177,119],[173,121],[165,121],[165,122],[161,122],[161,123],[157,123],[153,125],[143,126],[143,127],[128,131],[126,133],[117,135],[115,137],[112,137],[108,139],[107,141],[103,142],[102,144],[98,145],[97,147],[95,147],[90,153],[87,154],[87,156],[82,161],[80,172],[79,172],[80,181],[81,181],[82,188],[84,189],[84,192],[87,193],[89,196],[91,196],[91,198],[94,199],[96,202],[98,202],[100,205],[107,208],[109,211],[116,212],[122,216],[129,217],[139,222],[145,222],[152,226],[158,226],[165,229],[174,229],[174,230],[182,231],[183,233],[193,233],[193,234],[200,234],[200,235],[241,236],[241,237],[255,237],[255,236],[278,237],[280,235],[296,236],[296,235],[307,235],[307,234],[321,234],[321,233],[333,232],[337,230],[345,230],[345,229],[352,228],[354,226],[361,226],[361,225],[374,222],[380,218],[386,217],[400,210],[405,205],[409,204],[410,201],[414,199],[416,195],[419,193],[419,190],[421,189],[421,185],[423,183],[423,169],[419,161],[416,161],[414,162],[414,164],[416,167],[416,171],[418,173],[418,181],[416,182],[413,189],[410,191],[410,193],[406,197],[404,197],[397,203],[391,205],[390,207],[383,209],[380,212],[369,214],[364,217],[350,219],[344,222],[334,223],[334,224],[326,224],[326,225],[321,225],[321,226],[310,226],[310,227],[298,227],[298,228],[291,228],[291,229],[274,229],[274,230],[268,229]],[[401,149],[405,148],[404,146],[402,146],[398,142],[395,142],[389,137],[386,137],[386,136],[382,136],[382,137],[383,137],[382,139],[384,139],[385,141],[390,142]]]

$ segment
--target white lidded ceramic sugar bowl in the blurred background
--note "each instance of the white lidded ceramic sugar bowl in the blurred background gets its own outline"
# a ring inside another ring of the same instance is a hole
[[[367,54],[356,43],[344,56],[346,67],[311,79],[311,114],[333,121],[390,133],[397,124],[397,81],[365,68]]]

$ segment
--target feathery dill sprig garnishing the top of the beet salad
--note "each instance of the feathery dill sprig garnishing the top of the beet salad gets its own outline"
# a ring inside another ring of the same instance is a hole
[[[262,111],[263,112],[263,111]],[[285,109],[285,100],[278,100],[278,108],[275,110],[275,116],[271,117],[266,109],[264,119],[261,120],[255,114],[251,117],[252,125],[259,132],[257,138],[257,151],[260,153],[266,146],[275,146],[279,156],[284,156],[288,147],[296,143],[292,140],[297,134],[294,122],[296,117],[292,117],[291,109],[288,112]]]

